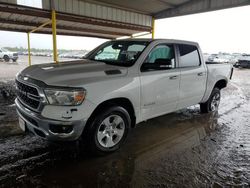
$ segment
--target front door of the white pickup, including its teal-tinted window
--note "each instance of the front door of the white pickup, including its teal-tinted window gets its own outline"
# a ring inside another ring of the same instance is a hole
[[[147,120],[176,110],[180,71],[172,44],[155,46],[141,66],[141,114]]]

